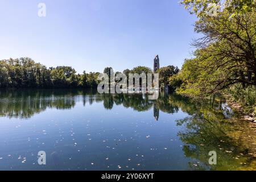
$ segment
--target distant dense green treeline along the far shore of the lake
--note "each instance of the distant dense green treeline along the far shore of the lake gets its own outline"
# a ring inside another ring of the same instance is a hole
[[[112,67],[104,69],[104,73],[110,76]],[[176,74],[179,69],[168,66],[159,69],[160,84],[166,84],[167,77]],[[117,76],[115,72],[114,75]],[[152,73],[148,67],[135,67],[125,69],[123,74],[129,80],[129,73]],[[80,75],[72,67],[59,66],[56,68],[35,63],[29,57],[20,59],[0,60],[0,88],[97,88],[100,80],[97,80],[99,72],[86,73]],[[116,81],[118,82],[118,81]]]

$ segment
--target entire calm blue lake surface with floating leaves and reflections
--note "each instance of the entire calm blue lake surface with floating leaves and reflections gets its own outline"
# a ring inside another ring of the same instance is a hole
[[[0,170],[256,169],[255,126],[222,98],[147,98],[0,90]],[[217,165],[208,163],[210,151]]]

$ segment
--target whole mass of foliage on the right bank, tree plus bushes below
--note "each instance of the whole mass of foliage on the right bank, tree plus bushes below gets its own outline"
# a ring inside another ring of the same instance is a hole
[[[189,97],[222,93],[256,113],[256,1],[183,0],[199,18],[193,59],[168,84]]]

